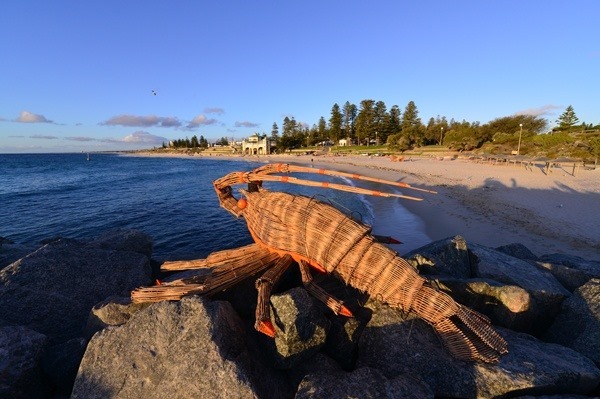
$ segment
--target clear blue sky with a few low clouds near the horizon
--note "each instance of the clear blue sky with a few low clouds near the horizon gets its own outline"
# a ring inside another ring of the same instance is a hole
[[[600,1],[31,1],[0,6],[0,153],[126,150],[414,101],[600,123]],[[156,92],[153,95],[152,91]]]

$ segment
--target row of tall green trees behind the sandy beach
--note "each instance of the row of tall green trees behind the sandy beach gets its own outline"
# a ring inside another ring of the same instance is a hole
[[[578,125],[579,119],[572,106],[559,117],[557,123],[554,130],[594,128],[585,123]],[[448,121],[446,117],[438,116],[424,124],[413,101],[402,112],[397,105],[388,111],[383,101],[363,100],[358,107],[348,101],[342,107],[334,104],[329,121],[321,117],[310,128],[293,117],[285,117],[281,135],[277,123],[273,123],[271,138],[277,140],[281,150],[310,146],[326,140],[337,142],[341,138],[350,138],[359,145],[387,143],[391,149],[398,151],[430,144],[472,150],[486,142],[502,140],[507,135],[518,133],[523,137],[533,136],[546,132],[547,128],[546,119],[532,115],[501,117],[486,124],[464,120],[458,122],[454,119]]]

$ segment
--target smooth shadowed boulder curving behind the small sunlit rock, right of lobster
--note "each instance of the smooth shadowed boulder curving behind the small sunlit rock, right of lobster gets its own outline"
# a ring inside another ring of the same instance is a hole
[[[535,307],[532,314],[540,316],[529,327],[529,332],[534,335],[545,331],[560,310],[562,301],[571,295],[550,272],[528,261],[478,244],[470,244],[469,249],[477,277],[516,285],[532,296]]]

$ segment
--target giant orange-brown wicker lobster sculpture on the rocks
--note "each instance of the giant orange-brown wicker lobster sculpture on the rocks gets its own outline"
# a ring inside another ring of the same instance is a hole
[[[307,291],[336,314],[352,316],[341,301],[313,282],[311,267],[331,273],[392,307],[414,312],[435,329],[444,346],[457,359],[493,363],[508,352],[506,341],[485,316],[434,288],[406,260],[383,245],[385,237],[371,235],[370,227],[328,203],[301,195],[272,192],[263,188],[262,182],[281,181],[361,194],[420,198],[301,180],[287,175],[289,172],[343,176],[429,191],[402,182],[287,164],[267,164],[252,172],[230,173],[214,181],[219,202],[234,216],[245,219],[254,244],[215,252],[206,259],[165,262],[161,267],[163,271],[206,268],[208,273],[138,288],[132,292],[132,300],[152,302],[179,300],[192,294],[210,296],[249,276],[263,273],[256,280],[255,328],[274,337],[269,306],[271,290],[295,261]],[[281,176],[282,173],[286,175]],[[231,186],[242,183],[248,184],[248,190],[240,190],[244,198],[238,200],[233,196]]]

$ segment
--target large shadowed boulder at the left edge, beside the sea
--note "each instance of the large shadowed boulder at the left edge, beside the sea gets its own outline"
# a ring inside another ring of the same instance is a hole
[[[149,284],[145,255],[61,239],[0,271],[0,325],[23,325],[50,343],[82,334],[90,309]]]

